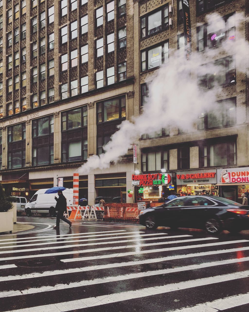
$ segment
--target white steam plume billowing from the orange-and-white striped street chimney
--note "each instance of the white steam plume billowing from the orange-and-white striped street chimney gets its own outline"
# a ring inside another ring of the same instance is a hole
[[[221,17],[216,14],[208,16],[210,25],[214,29],[221,29]],[[236,13],[236,28],[245,23],[244,17]],[[195,32],[192,30],[192,37]],[[249,55],[249,45],[244,38],[240,38],[238,31],[234,40],[223,40],[218,48],[205,48],[203,52],[196,52],[192,47],[190,61],[179,55],[179,51],[169,53],[169,61],[155,71],[149,84],[147,103],[143,106],[143,113],[133,119],[125,120],[120,128],[112,135],[110,142],[104,146],[105,153],[93,155],[87,163],[79,168],[80,174],[88,174],[95,168],[109,168],[110,162],[117,162],[131,148],[132,143],[139,141],[143,134],[152,134],[162,128],[180,128],[188,133],[196,132],[193,124],[200,114],[207,113],[217,107],[216,97],[221,96],[223,89],[214,82],[214,88],[200,90],[198,77],[218,73],[220,66],[210,63],[217,56],[235,54],[237,71],[248,73],[246,60]],[[208,66],[202,64],[208,63]],[[191,73],[191,75],[190,75]],[[137,95],[138,96],[138,95]],[[228,100],[229,101],[229,100]],[[240,120],[239,123],[243,123]],[[190,134],[191,135],[191,134]]]

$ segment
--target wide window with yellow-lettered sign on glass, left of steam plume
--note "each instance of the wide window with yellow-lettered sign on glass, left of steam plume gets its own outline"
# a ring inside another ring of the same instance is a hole
[[[169,43],[149,47],[141,52],[141,71],[147,71],[168,62]]]

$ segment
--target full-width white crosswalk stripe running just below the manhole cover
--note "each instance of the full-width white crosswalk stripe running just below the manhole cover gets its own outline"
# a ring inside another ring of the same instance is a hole
[[[161,258],[150,258],[150,259],[138,260],[138,261],[98,264],[95,266],[82,266],[81,268],[44,271],[42,273],[37,273],[37,272],[35,273],[34,272],[34,273],[23,274],[23,275],[8,275],[8,276],[2,276],[2,277],[0,276],[0,282],[5,282],[8,280],[25,280],[25,279],[29,279],[29,278],[39,278],[39,277],[44,277],[44,276],[52,276],[52,275],[60,275],[60,274],[64,275],[64,274],[71,274],[71,273],[80,273],[80,272],[87,272],[87,271],[94,271],[94,270],[102,270],[103,271],[103,270],[109,270],[109,269],[118,268],[118,267],[124,267],[124,266],[137,266],[137,265],[143,265],[143,264],[171,261],[171,260],[176,260],[176,259],[204,257],[204,256],[220,255],[220,254],[232,253],[232,252],[237,253],[239,251],[246,251],[246,250],[249,250],[249,247],[223,249],[223,250],[215,250],[215,251],[204,251],[204,252],[192,253],[192,254],[186,254],[186,255],[167,256],[167,257],[161,257]],[[243,260],[243,259],[245,259],[245,260]],[[239,260],[241,262],[247,261],[247,257],[241,258]]]

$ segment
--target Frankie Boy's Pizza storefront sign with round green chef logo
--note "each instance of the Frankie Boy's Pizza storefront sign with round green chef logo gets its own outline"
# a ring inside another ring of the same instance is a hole
[[[133,174],[132,186],[158,186],[169,184],[171,175],[168,173]]]

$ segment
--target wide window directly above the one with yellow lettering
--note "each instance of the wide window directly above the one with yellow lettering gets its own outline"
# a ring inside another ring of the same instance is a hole
[[[169,27],[168,5],[141,18],[141,38]]]

